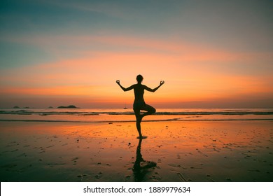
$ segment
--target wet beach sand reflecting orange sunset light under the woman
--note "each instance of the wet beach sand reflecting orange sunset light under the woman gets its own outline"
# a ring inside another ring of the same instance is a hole
[[[272,121],[0,122],[1,181],[272,181]]]

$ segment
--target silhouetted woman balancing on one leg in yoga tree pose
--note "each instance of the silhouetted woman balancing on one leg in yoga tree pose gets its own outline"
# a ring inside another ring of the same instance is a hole
[[[144,116],[148,116],[151,115],[153,113],[155,113],[155,109],[152,106],[149,106],[148,104],[145,103],[144,101],[144,90],[148,90],[150,92],[155,92],[156,90],[158,90],[158,88],[160,86],[162,86],[165,81],[160,81],[160,85],[158,85],[158,87],[155,87],[154,89],[151,89],[150,87],[147,87],[146,85],[142,85],[142,80],[144,78],[141,75],[137,76],[137,84],[131,85],[130,87],[123,87],[122,85],[120,85],[120,80],[116,80],[116,83],[118,83],[118,85],[124,90],[124,91],[128,91],[128,90],[132,90],[134,89],[134,114],[136,116],[136,120],[137,120],[137,131],[139,132],[139,139],[144,139],[144,137],[141,134],[141,120],[142,118],[144,118]],[[146,111],[145,113],[140,113],[140,111]]]

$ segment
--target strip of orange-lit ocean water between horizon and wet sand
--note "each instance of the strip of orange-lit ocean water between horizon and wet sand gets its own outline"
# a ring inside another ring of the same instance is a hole
[[[143,121],[273,120],[273,109],[157,109]],[[0,109],[0,121],[125,123],[132,109]]]

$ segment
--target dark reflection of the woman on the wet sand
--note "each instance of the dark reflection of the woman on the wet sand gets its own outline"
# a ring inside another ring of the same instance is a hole
[[[148,169],[155,167],[156,163],[152,161],[145,161],[141,155],[141,142],[142,139],[139,139],[139,146],[137,146],[137,158],[134,162],[133,172],[134,172],[134,181],[142,181],[144,176],[148,173]]]

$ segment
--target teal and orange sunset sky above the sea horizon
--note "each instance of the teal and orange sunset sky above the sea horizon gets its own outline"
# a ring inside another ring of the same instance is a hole
[[[0,108],[273,108],[273,1],[0,1]]]

